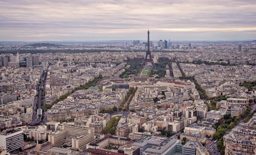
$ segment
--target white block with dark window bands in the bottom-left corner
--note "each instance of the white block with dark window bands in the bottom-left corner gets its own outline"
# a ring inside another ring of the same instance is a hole
[[[0,146],[8,152],[24,147],[23,130],[15,131],[11,128],[0,132]]]

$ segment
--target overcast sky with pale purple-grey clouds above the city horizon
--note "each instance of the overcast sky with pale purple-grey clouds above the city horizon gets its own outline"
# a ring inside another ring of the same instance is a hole
[[[0,41],[256,39],[255,0],[0,0]]]

